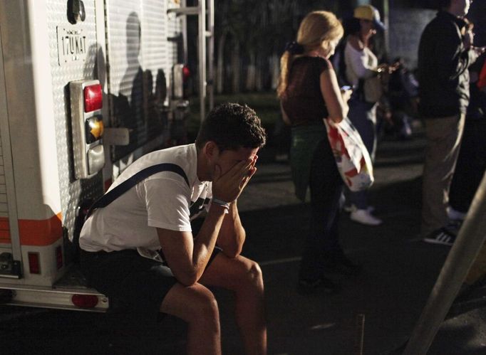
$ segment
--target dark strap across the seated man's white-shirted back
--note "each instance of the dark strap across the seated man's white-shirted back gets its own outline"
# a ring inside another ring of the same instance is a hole
[[[134,174],[133,176],[130,176],[128,179],[123,181],[118,186],[115,186],[112,190],[108,191],[106,194],[98,198],[93,205],[88,210],[88,213],[86,213],[86,219],[88,219],[89,216],[91,216],[91,213],[95,211],[96,208],[103,208],[108,206],[110,203],[115,201],[118,197],[122,196],[130,190],[133,186],[138,184],[140,181],[143,179],[148,178],[148,176],[157,174],[160,171],[172,171],[173,173],[179,174],[184,178],[187,186],[189,185],[189,179],[187,179],[187,175],[185,174],[184,170],[176,164],[172,163],[161,163],[161,164],[156,164],[149,166],[148,168],[145,168],[143,170],[138,171],[137,174]]]

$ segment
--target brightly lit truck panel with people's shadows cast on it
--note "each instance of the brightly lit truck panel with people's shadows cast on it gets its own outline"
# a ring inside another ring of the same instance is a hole
[[[113,160],[167,134],[163,106],[177,58],[167,36],[180,31],[180,19],[167,16],[167,6],[174,1],[106,0],[111,124],[130,129],[130,144],[115,147]]]

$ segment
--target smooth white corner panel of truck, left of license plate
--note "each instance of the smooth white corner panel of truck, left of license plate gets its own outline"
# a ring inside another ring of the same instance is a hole
[[[4,69],[19,219],[42,220],[61,211],[57,157],[53,154],[56,139],[52,97],[42,95],[44,90],[51,90],[48,53],[43,46],[43,2],[4,1],[4,11],[0,11],[2,46],[8,48],[4,50]],[[29,11],[28,6],[32,6]],[[41,16],[37,16],[39,13]],[[19,20],[8,21],[9,17]],[[33,117],[38,119],[32,120]]]

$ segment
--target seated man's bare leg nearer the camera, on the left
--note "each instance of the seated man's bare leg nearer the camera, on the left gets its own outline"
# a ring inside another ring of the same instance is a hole
[[[188,355],[220,355],[219,311],[214,295],[200,284],[179,283],[167,292],[160,312],[172,314],[188,324]]]

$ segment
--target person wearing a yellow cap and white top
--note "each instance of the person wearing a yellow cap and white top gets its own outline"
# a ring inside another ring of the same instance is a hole
[[[378,65],[378,58],[371,51],[371,38],[376,29],[385,26],[380,21],[378,10],[371,5],[362,5],[354,9],[353,18],[346,23],[346,46],[344,63],[346,80],[353,86],[354,92],[349,100],[348,117],[358,130],[371,158],[376,150],[376,101],[366,96],[365,81],[376,78],[388,66]],[[379,83],[378,83],[379,84]],[[379,89],[379,88],[378,88]],[[368,226],[378,226],[381,219],[371,214],[368,206],[368,191],[351,192],[346,190],[346,207],[351,212],[352,221]]]

